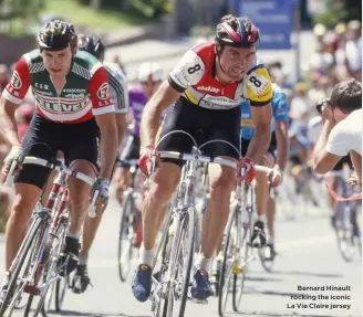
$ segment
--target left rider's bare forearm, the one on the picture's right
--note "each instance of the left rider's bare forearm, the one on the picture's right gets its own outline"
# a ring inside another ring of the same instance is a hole
[[[116,125],[101,129],[101,170],[100,178],[111,178],[111,172],[117,155],[118,137]]]

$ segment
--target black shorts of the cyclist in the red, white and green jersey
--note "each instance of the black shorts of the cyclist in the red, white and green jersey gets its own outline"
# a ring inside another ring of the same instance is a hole
[[[34,115],[22,141],[24,156],[34,156],[45,160],[64,154],[70,165],[75,160],[86,160],[100,169],[100,129],[94,118],[81,124],[61,124]],[[30,183],[43,188],[50,169],[35,165],[23,165],[14,178],[15,182]]]

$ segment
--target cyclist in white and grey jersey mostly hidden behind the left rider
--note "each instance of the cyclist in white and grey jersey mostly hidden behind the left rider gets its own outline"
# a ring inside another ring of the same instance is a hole
[[[121,146],[126,129],[126,114],[128,112],[126,76],[117,64],[104,62],[106,47],[101,42],[101,39],[81,34],[79,36],[77,46],[80,51],[86,51],[93,56],[95,56],[104,65],[107,72],[108,92],[110,97],[115,105],[116,124],[118,131],[118,146]],[[102,209],[97,208],[96,216],[87,216],[84,222],[79,264],[72,282],[73,293],[83,293],[91,282],[87,271],[87,260],[90,249],[93,244],[94,237],[102,220]]]

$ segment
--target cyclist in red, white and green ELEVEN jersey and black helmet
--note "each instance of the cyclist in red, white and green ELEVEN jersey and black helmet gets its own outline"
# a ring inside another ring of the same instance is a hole
[[[72,24],[52,21],[38,34],[37,50],[17,63],[11,82],[0,101],[1,134],[12,149],[2,172],[9,173],[19,157],[34,156],[53,160],[59,150],[75,171],[95,178],[92,188],[73,177],[68,178],[70,226],[60,256],[60,274],[76,266],[79,240],[93,192],[101,201],[108,199],[111,171],[117,151],[115,106],[108,95],[107,73],[87,52],[77,51],[77,35]],[[35,114],[20,144],[14,112],[29,88],[35,99]],[[17,200],[12,204],[6,231],[6,271],[25,236],[27,225],[50,175],[50,169],[24,165],[14,179]],[[63,264],[68,265],[63,265]],[[0,304],[11,274],[4,275]]]

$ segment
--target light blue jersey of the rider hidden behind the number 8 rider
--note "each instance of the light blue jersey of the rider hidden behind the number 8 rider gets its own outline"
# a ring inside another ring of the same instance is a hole
[[[274,131],[274,121],[289,120],[289,106],[287,95],[282,92],[282,89],[273,84],[272,85],[272,123],[271,123],[271,131]],[[249,102],[243,102],[240,105],[241,108],[241,137],[242,139],[250,140],[255,134],[255,127],[252,123],[252,115]]]

